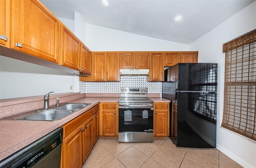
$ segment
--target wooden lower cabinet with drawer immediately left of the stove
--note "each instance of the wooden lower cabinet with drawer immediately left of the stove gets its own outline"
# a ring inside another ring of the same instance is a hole
[[[100,108],[102,121],[100,135],[117,136],[118,134],[118,103],[102,103]]]

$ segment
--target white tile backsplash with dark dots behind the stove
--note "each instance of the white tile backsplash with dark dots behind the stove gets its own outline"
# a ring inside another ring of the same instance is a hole
[[[81,93],[120,93],[121,87],[148,88],[148,93],[161,93],[162,82],[147,82],[146,76],[120,76],[120,82],[82,82]]]

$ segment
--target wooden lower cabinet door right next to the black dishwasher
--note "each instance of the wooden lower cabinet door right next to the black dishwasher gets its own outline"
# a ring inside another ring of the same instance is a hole
[[[62,167],[81,168],[82,167],[82,127],[80,126],[70,136],[62,142]]]

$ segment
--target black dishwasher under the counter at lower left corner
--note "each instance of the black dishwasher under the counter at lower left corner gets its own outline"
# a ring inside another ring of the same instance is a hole
[[[60,168],[63,128],[57,128],[0,161],[0,168]]]

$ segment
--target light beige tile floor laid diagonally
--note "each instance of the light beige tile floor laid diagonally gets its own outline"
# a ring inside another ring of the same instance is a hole
[[[82,168],[241,168],[217,149],[176,147],[169,138],[118,142],[99,138]]]

